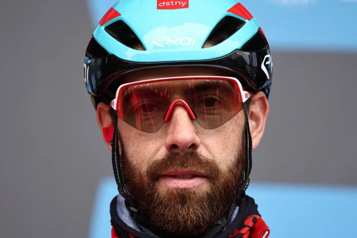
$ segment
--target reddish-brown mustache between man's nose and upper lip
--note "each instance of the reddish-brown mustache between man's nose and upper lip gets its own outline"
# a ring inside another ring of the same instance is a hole
[[[162,159],[154,161],[146,170],[150,182],[157,182],[162,174],[171,170],[192,169],[205,173],[208,180],[219,177],[220,168],[215,161],[197,151],[169,152]]]

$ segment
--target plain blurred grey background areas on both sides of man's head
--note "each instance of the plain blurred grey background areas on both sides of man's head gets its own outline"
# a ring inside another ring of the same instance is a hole
[[[84,0],[2,1],[0,237],[87,237],[111,155],[86,94]],[[357,186],[357,54],[273,49],[252,181]]]

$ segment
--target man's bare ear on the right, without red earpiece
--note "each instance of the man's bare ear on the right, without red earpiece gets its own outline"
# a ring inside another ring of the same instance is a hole
[[[269,113],[269,103],[265,93],[259,91],[251,97],[248,119],[252,136],[252,149],[258,147],[265,130],[265,123]]]

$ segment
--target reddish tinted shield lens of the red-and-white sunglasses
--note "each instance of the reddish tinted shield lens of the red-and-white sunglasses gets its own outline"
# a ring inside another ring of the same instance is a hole
[[[192,79],[147,82],[127,85],[119,93],[118,116],[144,132],[156,132],[172,101],[185,100],[205,129],[219,127],[242,109],[236,82],[217,79]]]

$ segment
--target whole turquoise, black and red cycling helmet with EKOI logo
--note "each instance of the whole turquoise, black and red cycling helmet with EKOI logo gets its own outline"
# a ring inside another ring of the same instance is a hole
[[[152,67],[219,67],[243,77],[248,91],[268,97],[271,88],[268,42],[236,0],[118,1],[94,30],[84,63],[95,107],[114,79]]]

